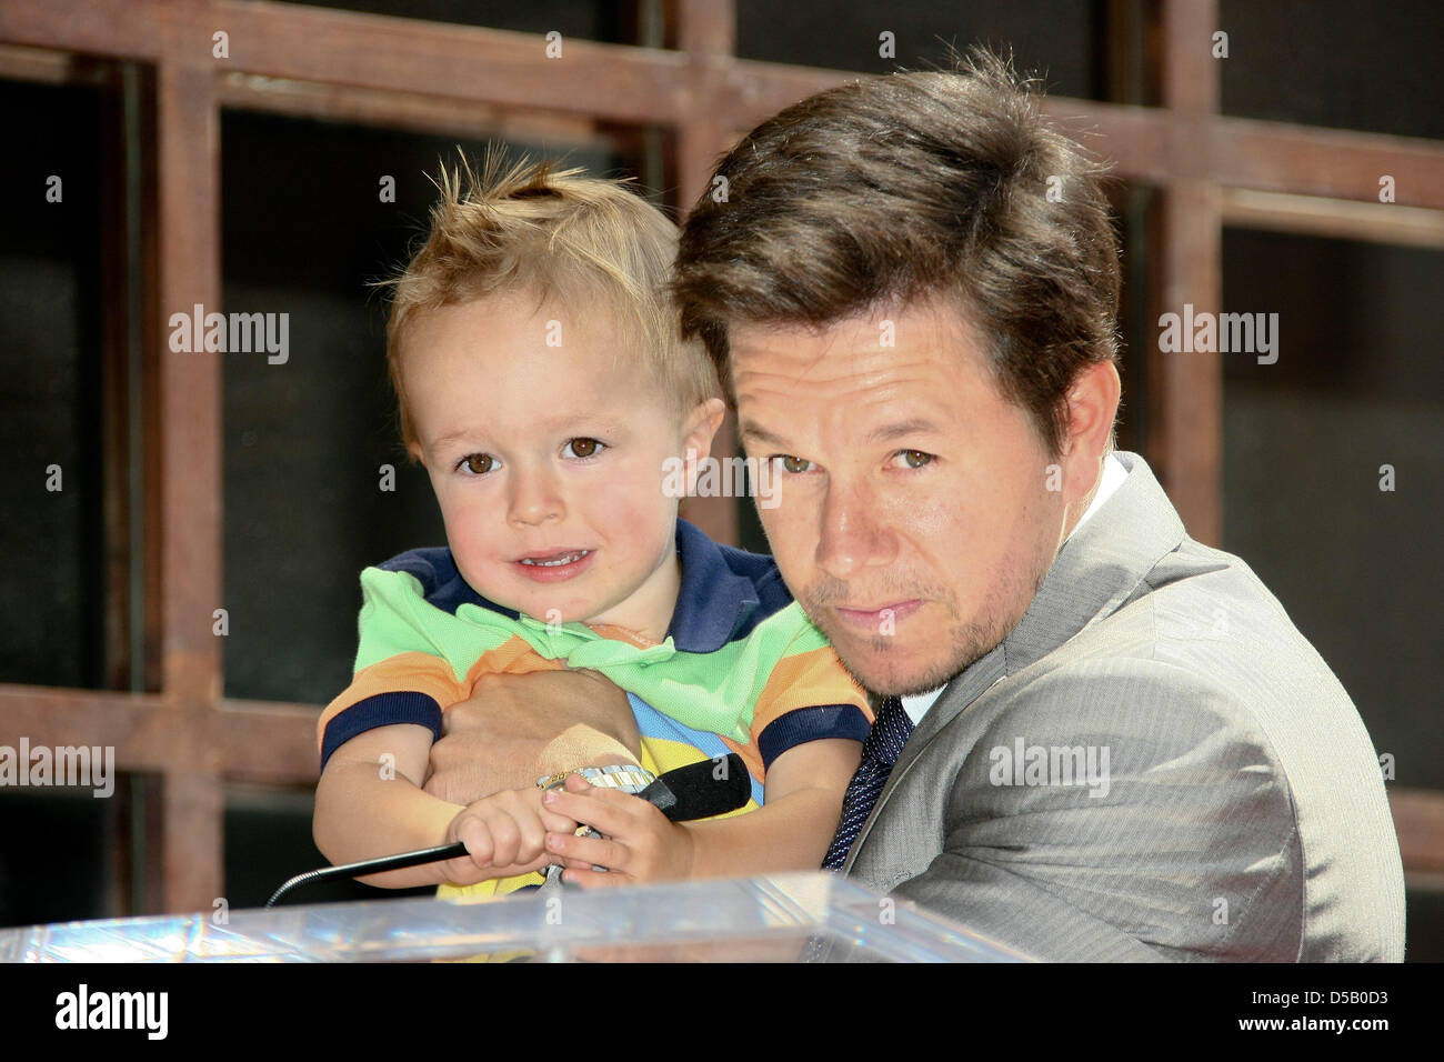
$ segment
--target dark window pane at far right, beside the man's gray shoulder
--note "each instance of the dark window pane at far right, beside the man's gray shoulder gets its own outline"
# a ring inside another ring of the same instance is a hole
[[[1279,315],[1276,363],[1223,355],[1225,548],[1334,669],[1398,783],[1444,786],[1425,725],[1444,682],[1444,254],[1229,230],[1223,266],[1226,309]]]

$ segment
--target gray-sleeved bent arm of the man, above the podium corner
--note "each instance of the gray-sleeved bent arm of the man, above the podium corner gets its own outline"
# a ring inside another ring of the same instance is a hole
[[[1019,691],[953,779],[943,851],[894,893],[1044,959],[1291,959],[1302,881],[1281,764],[1220,685],[1135,665]],[[1030,773],[1032,748],[1048,761]],[[1071,785],[1054,748],[1082,750]]]

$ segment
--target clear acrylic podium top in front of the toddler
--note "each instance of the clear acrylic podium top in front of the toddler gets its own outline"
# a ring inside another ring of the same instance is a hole
[[[846,878],[429,897],[0,931],[3,962],[1009,962],[1025,957]]]

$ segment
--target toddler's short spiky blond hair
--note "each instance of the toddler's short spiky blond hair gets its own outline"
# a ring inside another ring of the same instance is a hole
[[[391,290],[386,345],[400,403],[401,439],[413,449],[401,344],[419,312],[523,292],[578,314],[609,312],[679,410],[718,393],[699,341],[683,341],[669,290],[677,227],[627,181],[583,176],[553,162],[507,162],[488,152],[478,176],[465,155],[433,181],[430,233]]]

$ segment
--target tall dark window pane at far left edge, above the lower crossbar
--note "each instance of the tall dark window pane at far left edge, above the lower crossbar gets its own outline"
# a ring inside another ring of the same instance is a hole
[[[103,100],[0,81],[0,682],[103,686]]]

